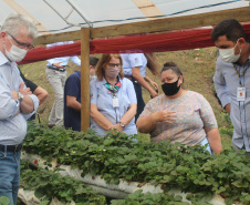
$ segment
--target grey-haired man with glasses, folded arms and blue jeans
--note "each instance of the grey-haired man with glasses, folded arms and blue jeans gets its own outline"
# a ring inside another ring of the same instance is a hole
[[[27,134],[27,120],[37,112],[39,100],[20,76],[21,61],[38,35],[28,18],[12,14],[0,32],[0,196],[17,204],[20,180],[20,154]]]

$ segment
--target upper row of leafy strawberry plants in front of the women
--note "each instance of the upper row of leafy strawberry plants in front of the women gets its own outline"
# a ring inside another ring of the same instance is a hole
[[[165,192],[180,187],[183,192],[201,193],[206,199],[217,193],[225,196],[227,204],[249,198],[241,197],[241,193],[249,193],[250,157],[230,150],[209,155],[199,145],[137,143],[119,132],[101,137],[91,129],[83,133],[35,125],[29,126],[24,150],[79,167],[82,176],[101,175],[107,183],[118,184],[119,178],[125,178],[164,184]]]

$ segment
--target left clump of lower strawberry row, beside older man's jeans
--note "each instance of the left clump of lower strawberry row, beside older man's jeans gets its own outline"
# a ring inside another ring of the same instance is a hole
[[[42,198],[42,204],[49,204],[56,197],[62,203],[74,201],[77,205],[104,205],[104,196],[83,183],[74,181],[70,176],[61,176],[56,171],[30,170],[22,163],[21,186],[24,189],[35,191],[35,196]]]

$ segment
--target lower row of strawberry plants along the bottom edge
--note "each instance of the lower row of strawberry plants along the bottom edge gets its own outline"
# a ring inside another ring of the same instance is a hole
[[[50,204],[53,197],[56,197],[62,203],[75,202],[76,205],[106,205],[105,198],[100,196],[92,188],[86,187],[83,183],[74,181],[72,177],[62,177],[55,171],[30,168],[29,162],[21,163],[21,186],[24,189],[35,189],[34,194],[41,199],[41,205]],[[4,201],[3,201],[4,199]],[[1,205],[8,205],[8,198],[3,198]],[[124,199],[113,199],[112,205],[188,205],[187,202],[181,202],[183,197],[174,194],[160,193],[143,194],[142,191],[136,191],[129,194]],[[194,205],[208,205],[208,203],[197,202],[192,199]]]

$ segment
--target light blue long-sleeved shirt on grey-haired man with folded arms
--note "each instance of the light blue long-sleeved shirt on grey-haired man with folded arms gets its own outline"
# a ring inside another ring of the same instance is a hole
[[[10,62],[0,52],[0,144],[18,145],[27,134],[27,119],[34,114],[39,106],[35,95],[30,95],[34,103],[34,111],[29,114],[15,113],[20,109],[18,100],[11,99],[11,91],[19,91],[23,80],[15,62]]]

